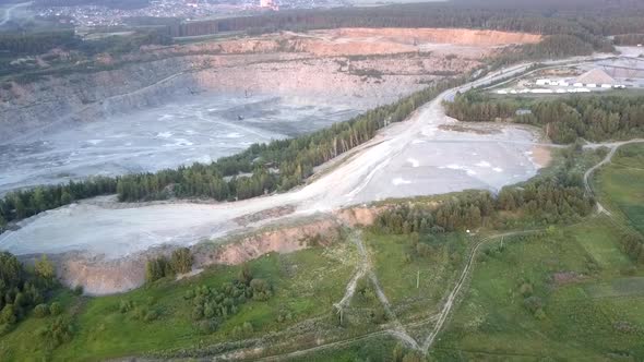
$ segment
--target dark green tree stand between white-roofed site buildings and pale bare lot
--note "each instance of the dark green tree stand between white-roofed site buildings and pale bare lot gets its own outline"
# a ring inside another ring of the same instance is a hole
[[[517,116],[518,109],[529,110]],[[644,96],[570,96],[497,99],[467,92],[445,104],[450,117],[466,122],[512,120],[537,125],[559,144],[644,135]]]

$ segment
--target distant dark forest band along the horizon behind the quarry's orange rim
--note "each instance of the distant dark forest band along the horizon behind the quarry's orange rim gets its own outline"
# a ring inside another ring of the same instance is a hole
[[[641,29],[644,32],[644,19],[641,17],[644,14],[644,4],[639,1],[628,3],[613,4],[601,0],[556,3],[461,0],[373,8],[294,10],[184,23],[169,27],[169,32],[172,36],[333,27],[468,27],[595,36],[637,33]]]

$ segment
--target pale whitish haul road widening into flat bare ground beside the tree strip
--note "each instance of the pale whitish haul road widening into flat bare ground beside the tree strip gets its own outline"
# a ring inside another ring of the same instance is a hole
[[[498,190],[536,173],[540,166],[530,157],[535,135],[514,126],[496,133],[442,129],[456,121],[445,117],[441,101],[457,90],[488,84],[527,67],[515,65],[443,93],[303,188],[213,205],[176,203],[117,209],[86,203],[70,205],[22,221],[19,230],[0,236],[0,249],[19,255],[76,251],[120,258],[160,244],[190,245],[223,237],[242,228],[236,218],[285,205],[306,216],[386,197]]]

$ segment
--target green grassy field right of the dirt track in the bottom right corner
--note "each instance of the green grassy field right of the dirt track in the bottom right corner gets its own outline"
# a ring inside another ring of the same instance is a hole
[[[486,246],[432,355],[441,361],[644,359],[644,270],[621,274],[632,265],[611,228],[606,219],[593,219]]]

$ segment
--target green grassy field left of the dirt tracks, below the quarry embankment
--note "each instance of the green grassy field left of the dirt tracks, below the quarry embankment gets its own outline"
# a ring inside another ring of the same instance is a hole
[[[269,280],[274,295],[265,302],[241,304],[239,313],[212,334],[196,328],[191,318],[192,307],[183,295],[195,285],[219,288],[238,276],[239,266],[211,268],[198,277],[180,281],[159,280],[120,295],[80,298],[64,292],[56,299],[63,303],[65,318],[72,323],[72,340],[56,349],[49,348],[38,330],[55,317],[28,317],[14,331],[0,338],[0,360],[90,361],[262,336],[302,319],[329,314],[330,306],[342,298],[354,273],[355,257],[351,244],[337,243],[329,249],[314,248],[284,255],[273,253],[251,262],[253,276]],[[133,302],[134,311],[121,313],[121,300]],[[135,317],[136,310],[156,311],[159,316],[144,322]],[[281,314],[290,317],[279,323]],[[246,322],[253,330],[235,335],[232,329]]]

